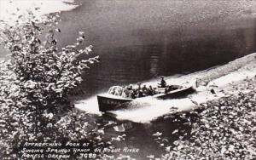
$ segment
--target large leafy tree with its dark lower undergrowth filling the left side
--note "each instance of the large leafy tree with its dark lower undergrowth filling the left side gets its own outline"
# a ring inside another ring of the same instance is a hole
[[[75,122],[77,116],[70,110],[68,94],[99,57],[90,57],[91,45],[79,49],[85,39],[83,31],[76,43],[58,49],[55,34],[61,32],[56,28],[59,21],[58,14],[51,14],[42,23],[29,12],[20,15],[15,26],[4,24],[1,43],[10,57],[0,64],[2,158],[17,158],[21,140],[77,140],[89,136],[87,123],[81,117],[80,123]],[[79,60],[82,54],[90,58]],[[62,117],[56,118],[61,113]],[[67,129],[71,127],[76,129]]]

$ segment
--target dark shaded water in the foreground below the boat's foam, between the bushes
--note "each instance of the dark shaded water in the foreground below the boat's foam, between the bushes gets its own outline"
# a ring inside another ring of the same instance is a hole
[[[156,157],[165,153],[166,146],[178,139],[189,139],[192,123],[196,115],[183,114],[161,117],[152,123],[132,123],[130,121],[118,121],[108,115],[97,118],[96,123],[104,128],[105,138],[125,135],[125,140],[114,143],[117,148],[138,148],[138,153],[121,154],[130,155],[136,159],[146,159],[149,155]],[[114,155],[119,156],[119,153]]]

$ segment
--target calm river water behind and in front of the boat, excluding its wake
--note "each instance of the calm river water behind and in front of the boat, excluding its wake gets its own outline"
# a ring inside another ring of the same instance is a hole
[[[80,99],[89,110],[97,108],[95,95],[113,85],[186,75],[223,65],[256,49],[253,1],[77,2],[82,4],[79,8],[61,14],[59,45],[73,43],[78,32],[85,31],[86,45],[93,44],[94,54],[101,57],[101,62],[84,74],[80,86],[85,90]],[[151,123],[131,123],[108,116],[90,117],[105,128],[106,135],[125,134],[126,140],[117,146],[139,148],[139,154],[131,154],[137,159],[164,152],[153,136],[156,132],[168,143],[180,136],[189,138],[193,118],[160,117]],[[176,129],[179,131],[172,134]]]

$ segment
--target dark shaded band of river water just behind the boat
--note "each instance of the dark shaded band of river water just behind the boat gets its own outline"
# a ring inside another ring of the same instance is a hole
[[[218,66],[253,53],[256,46],[254,33],[254,27],[231,31],[220,28],[192,39],[187,39],[188,35],[177,37],[172,33],[174,35],[159,35],[163,36],[162,40],[144,42],[144,45],[96,48],[96,54],[100,54],[102,61],[91,68],[90,76],[84,75],[82,88],[90,96],[106,91],[113,85],[143,82],[162,75],[184,74]]]

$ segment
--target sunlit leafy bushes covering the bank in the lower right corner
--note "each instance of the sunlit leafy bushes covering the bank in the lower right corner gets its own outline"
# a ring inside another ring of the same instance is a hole
[[[190,138],[166,146],[168,153],[163,159],[256,158],[256,78],[232,87],[238,94],[208,101],[203,111],[196,113]]]

